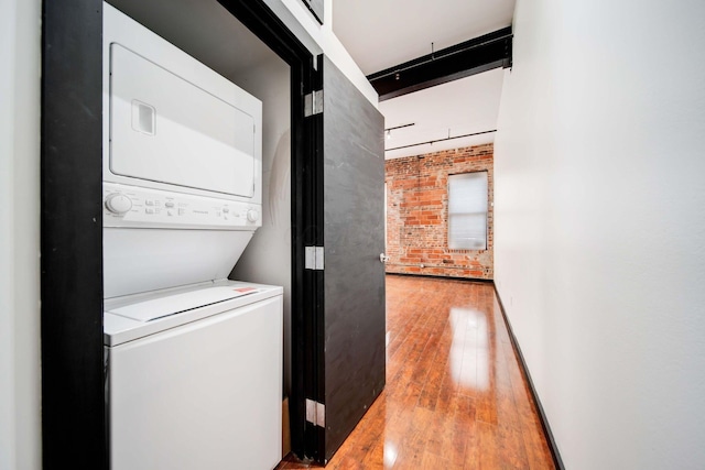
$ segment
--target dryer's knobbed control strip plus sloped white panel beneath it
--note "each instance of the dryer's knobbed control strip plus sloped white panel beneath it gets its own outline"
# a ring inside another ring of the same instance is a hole
[[[104,296],[223,280],[261,225],[260,205],[104,183]]]

